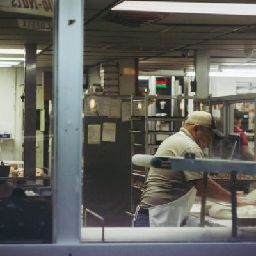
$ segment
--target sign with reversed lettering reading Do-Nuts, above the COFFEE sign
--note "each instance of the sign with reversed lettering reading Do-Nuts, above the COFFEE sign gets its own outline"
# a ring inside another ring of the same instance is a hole
[[[0,11],[53,16],[53,0],[1,0]]]

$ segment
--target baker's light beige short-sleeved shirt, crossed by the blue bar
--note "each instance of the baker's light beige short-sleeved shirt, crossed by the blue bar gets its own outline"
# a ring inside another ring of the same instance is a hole
[[[184,156],[187,152],[195,153],[196,157],[204,157],[201,148],[195,143],[189,132],[181,128],[175,135],[164,140],[155,156]],[[150,168],[144,191],[141,195],[143,207],[172,202],[188,193],[193,187],[189,180],[202,179],[201,173],[172,171],[170,169]]]

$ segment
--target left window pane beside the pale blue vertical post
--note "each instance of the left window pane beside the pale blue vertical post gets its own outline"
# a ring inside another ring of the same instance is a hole
[[[0,243],[52,243],[52,18],[6,5],[0,65],[12,63],[0,67]],[[52,13],[51,1],[44,6]]]

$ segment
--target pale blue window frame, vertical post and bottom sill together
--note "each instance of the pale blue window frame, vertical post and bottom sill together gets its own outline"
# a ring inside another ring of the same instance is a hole
[[[4,256],[119,256],[136,255],[136,252],[142,256],[205,253],[236,256],[242,251],[245,255],[255,255],[255,242],[81,243],[83,0],[56,0],[54,6],[54,241],[52,244],[1,244],[0,252],[4,252]],[[68,20],[75,22],[68,25]],[[137,229],[134,235],[136,233]]]

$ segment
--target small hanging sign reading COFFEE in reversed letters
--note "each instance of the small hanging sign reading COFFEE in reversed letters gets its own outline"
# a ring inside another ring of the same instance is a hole
[[[18,19],[19,28],[33,29],[33,30],[43,30],[51,31],[52,22],[45,20],[29,20],[29,19]]]

